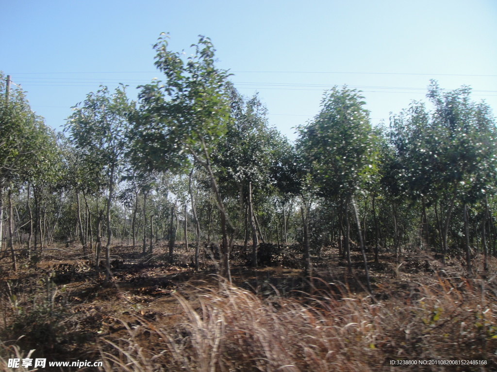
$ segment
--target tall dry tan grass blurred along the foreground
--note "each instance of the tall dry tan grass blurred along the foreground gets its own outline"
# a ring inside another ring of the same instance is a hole
[[[389,370],[392,358],[423,358],[486,360],[461,371],[493,371],[497,304],[485,284],[439,279],[377,303],[332,285],[304,302],[223,284],[177,295],[184,314],[174,326],[126,324],[129,337],[101,345],[104,370],[359,372]]]

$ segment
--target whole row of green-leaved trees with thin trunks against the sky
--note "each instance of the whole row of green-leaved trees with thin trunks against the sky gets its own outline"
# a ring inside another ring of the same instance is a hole
[[[218,242],[229,277],[235,242],[257,265],[260,243],[299,242],[312,257],[334,245],[351,269],[351,246],[366,251],[429,249],[442,262],[497,255],[496,121],[463,86],[427,89],[388,126],[372,125],[360,91],[323,94],[321,111],[290,142],[269,125],[258,95],[241,95],[200,37],[186,57],[154,46],[163,73],[139,88],[101,86],[74,107],[65,133],[31,111],[0,75],[0,257],[78,241],[82,256],[111,243],[153,253],[159,240],[195,249]],[[8,98],[8,99],[7,99]],[[284,249],[284,248],[283,248]],[[98,263],[96,263],[98,266]]]

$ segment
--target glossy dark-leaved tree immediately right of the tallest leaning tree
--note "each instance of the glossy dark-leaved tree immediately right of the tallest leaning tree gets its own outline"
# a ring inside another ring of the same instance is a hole
[[[223,194],[238,197],[238,224],[241,226],[247,204],[248,224],[252,237],[252,265],[257,266],[257,233],[253,211],[253,195],[270,192],[271,166],[282,143],[279,132],[268,126],[267,109],[258,95],[242,96],[231,84],[231,121],[222,141],[213,152],[215,174]],[[239,228],[237,228],[237,231]]]

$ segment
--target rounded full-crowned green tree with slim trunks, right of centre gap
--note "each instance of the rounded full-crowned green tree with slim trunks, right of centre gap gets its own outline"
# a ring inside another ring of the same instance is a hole
[[[355,192],[374,170],[374,136],[365,102],[355,89],[332,88],[324,94],[321,112],[314,121],[299,128],[298,145],[309,163],[318,195],[344,200],[345,252],[351,269],[348,207],[352,203],[358,217]],[[358,228],[360,227],[357,221]],[[359,236],[361,231],[358,230]],[[360,237],[362,241],[362,237]],[[368,289],[369,273],[361,244]]]

